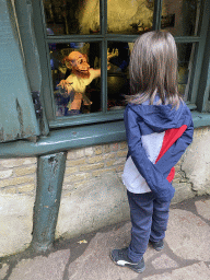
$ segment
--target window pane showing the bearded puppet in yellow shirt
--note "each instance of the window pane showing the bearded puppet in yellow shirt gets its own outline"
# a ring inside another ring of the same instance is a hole
[[[101,110],[100,43],[49,44],[49,51],[56,116]]]

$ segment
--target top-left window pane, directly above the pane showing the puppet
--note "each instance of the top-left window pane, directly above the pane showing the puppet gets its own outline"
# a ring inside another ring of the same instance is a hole
[[[43,0],[47,35],[98,34],[100,0]]]

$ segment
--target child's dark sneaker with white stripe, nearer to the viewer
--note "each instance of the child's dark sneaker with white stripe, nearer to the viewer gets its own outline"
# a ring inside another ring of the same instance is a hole
[[[142,272],[145,269],[143,258],[139,262],[133,262],[128,257],[128,248],[114,249],[110,254],[110,258],[116,265],[121,267],[128,267],[138,273]]]

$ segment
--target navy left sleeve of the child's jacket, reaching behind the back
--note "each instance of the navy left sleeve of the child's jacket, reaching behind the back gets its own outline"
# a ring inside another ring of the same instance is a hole
[[[160,201],[171,201],[174,197],[175,189],[172,184],[166,179],[164,175],[168,171],[167,159],[170,158],[168,153],[165,153],[163,156],[164,160],[160,160],[159,165],[153,164],[147,156],[145,151],[142,147],[141,141],[141,131],[139,128],[139,117],[132,112],[129,106],[127,106],[125,110],[125,126],[126,126],[126,135],[128,141],[128,150],[129,154],[132,158],[132,161],[142,175],[142,177],[148,183],[150,189],[152,190],[154,197]],[[188,138],[188,137],[186,137]],[[179,139],[180,141],[180,139]],[[184,140],[182,140],[184,141]],[[186,143],[187,145],[187,143]],[[173,147],[173,152],[176,153],[179,149],[179,143],[176,144],[176,151]],[[184,152],[184,145],[182,148]],[[182,151],[179,154],[182,155]],[[174,161],[178,161],[177,158]],[[164,162],[164,164],[163,164]],[[171,170],[171,168],[170,168]]]

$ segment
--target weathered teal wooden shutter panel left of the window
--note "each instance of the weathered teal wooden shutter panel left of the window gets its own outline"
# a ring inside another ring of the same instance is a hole
[[[0,9],[0,141],[39,135],[24,67],[14,10],[9,0]]]

